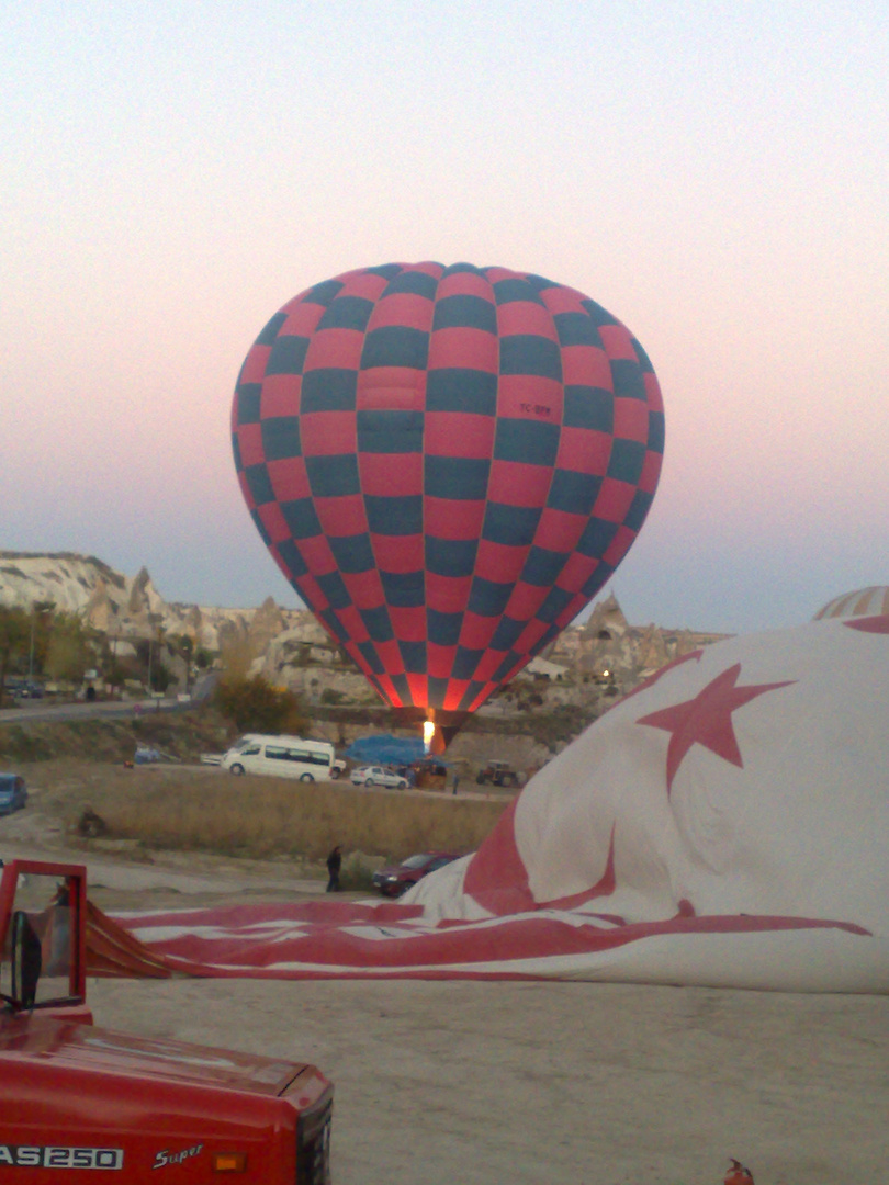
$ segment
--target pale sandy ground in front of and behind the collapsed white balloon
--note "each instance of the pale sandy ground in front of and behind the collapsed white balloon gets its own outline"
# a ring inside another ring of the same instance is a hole
[[[0,856],[39,854],[14,830]],[[109,910],[322,888],[277,864],[85,863]],[[889,1181],[889,997],[91,980],[89,998],[108,1027],[315,1063],[335,1185],[719,1185],[733,1155],[756,1185]]]

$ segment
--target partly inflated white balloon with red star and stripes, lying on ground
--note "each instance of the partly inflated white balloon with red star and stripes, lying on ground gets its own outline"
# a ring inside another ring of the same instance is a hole
[[[885,992],[887,703],[889,616],[740,636],[620,700],[397,904],[121,921],[204,975]]]

